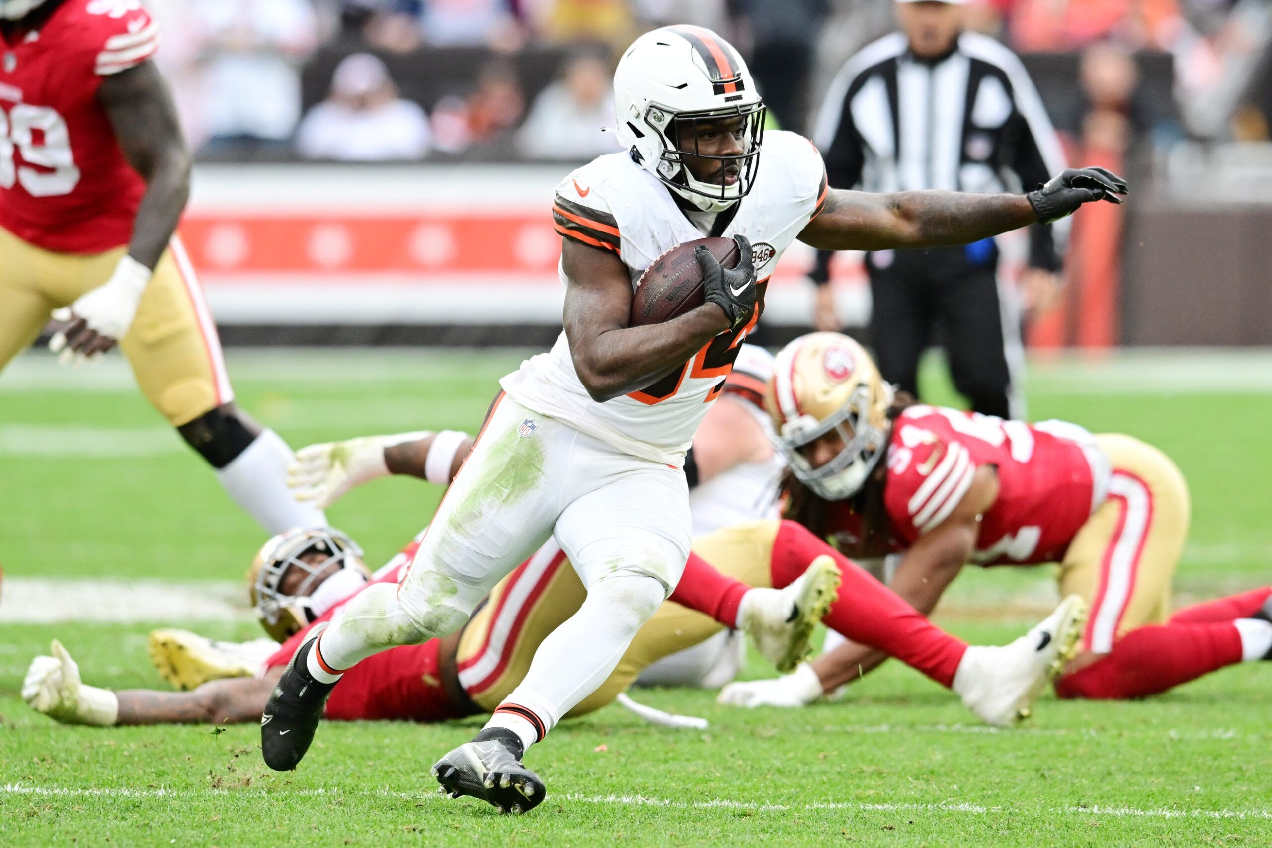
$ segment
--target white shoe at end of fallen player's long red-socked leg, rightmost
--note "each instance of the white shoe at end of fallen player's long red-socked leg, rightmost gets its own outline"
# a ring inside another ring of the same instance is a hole
[[[991,725],[1011,725],[1027,717],[1047,683],[1077,653],[1085,623],[1086,601],[1070,595],[1015,642],[1001,647],[973,645],[954,673],[954,692]]]

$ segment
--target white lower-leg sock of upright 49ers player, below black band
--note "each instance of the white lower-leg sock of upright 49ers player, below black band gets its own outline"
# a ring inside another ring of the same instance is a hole
[[[293,454],[272,430],[261,432],[234,460],[216,472],[221,487],[267,533],[291,528],[324,528],[327,516],[313,503],[298,501],[287,487]]]

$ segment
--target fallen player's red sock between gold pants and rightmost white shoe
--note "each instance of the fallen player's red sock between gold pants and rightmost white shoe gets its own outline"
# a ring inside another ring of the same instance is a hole
[[[826,626],[897,657],[949,688],[967,642],[929,622],[894,591],[794,521],[782,521],[773,543],[773,586],[789,586],[822,554],[834,557],[843,572],[838,599],[822,619]]]

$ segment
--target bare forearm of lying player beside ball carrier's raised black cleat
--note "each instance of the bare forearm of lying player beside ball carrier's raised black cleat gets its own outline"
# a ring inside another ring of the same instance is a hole
[[[125,689],[117,692],[117,725],[234,725],[259,721],[281,671],[253,678],[212,680],[193,692]]]

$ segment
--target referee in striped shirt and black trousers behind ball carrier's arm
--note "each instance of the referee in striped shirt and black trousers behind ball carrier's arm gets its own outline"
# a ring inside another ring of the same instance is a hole
[[[864,47],[834,78],[813,140],[831,186],[870,192],[1032,191],[1065,168],[1063,151],[1020,60],[963,32],[963,0],[897,0],[902,32]],[[1027,291],[1053,296],[1067,221],[1029,231]],[[818,256],[818,320],[833,319],[829,253]],[[917,395],[918,357],[940,333],[972,408],[1021,417],[1015,292],[1000,285],[992,239],[959,248],[866,254],[870,329],[884,379]]]

